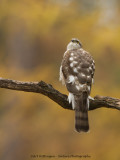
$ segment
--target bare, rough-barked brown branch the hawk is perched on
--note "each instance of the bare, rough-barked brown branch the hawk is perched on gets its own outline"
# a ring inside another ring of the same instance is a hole
[[[54,102],[58,103],[64,109],[72,110],[71,104],[68,103],[67,95],[60,93],[59,91],[54,89],[51,84],[47,84],[43,81],[22,82],[0,78],[0,88],[41,93],[52,99]],[[90,99],[89,110],[101,107],[114,108],[120,110],[120,99],[104,96],[95,96],[94,100]]]

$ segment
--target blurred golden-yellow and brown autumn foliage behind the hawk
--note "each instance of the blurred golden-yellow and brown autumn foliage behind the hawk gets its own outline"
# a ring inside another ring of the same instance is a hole
[[[119,16],[119,0],[0,0],[0,76],[43,80],[68,94],[59,67],[77,37],[96,62],[92,96],[120,98]],[[91,131],[78,134],[73,111],[39,94],[0,90],[1,160],[30,160],[32,154],[120,159],[119,111],[90,111]]]

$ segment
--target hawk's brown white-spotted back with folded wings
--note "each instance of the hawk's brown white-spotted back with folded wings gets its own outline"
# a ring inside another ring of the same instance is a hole
[[[95,63],[92,56],[83,49],[66,52],[61,72],[69,92],[79,94],[82,91],[90,93]]]

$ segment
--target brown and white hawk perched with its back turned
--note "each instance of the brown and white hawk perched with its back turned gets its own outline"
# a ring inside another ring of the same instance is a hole
[[[80,41],[73,38],[67,45],[60,67],[60,80],[69,91],[68,100],[75,110],[77,132],[89,131],[89,95],[93,83],[95,62],[82,48]]]

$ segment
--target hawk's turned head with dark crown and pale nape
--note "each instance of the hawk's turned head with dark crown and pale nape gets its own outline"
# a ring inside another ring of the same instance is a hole
[[[80,49],[82,47],[82,44],[77,38],[72,38],[70,43],[67,45],[67,50],[72,50],[72,49]]]

